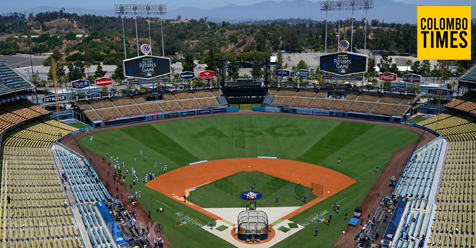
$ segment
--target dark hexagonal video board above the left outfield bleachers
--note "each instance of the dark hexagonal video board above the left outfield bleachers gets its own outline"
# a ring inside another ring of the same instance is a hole
[[[158,56],[141,56],[122,61],[124,76],[152,79],[170,74],[170,59]]]

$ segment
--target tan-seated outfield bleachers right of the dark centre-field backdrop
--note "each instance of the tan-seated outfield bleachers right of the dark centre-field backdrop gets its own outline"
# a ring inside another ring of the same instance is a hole
[[[270,89],[269,94],[274,95],[271,106],[318,108],[386,116],[405,115],[416,100],[413,96],[306,89],[299,91]]]

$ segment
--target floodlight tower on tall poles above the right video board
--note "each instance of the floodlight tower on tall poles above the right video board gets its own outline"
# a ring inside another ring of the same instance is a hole
[[[337,44],[340,42],[340,11],[341,10],[352,10],[352,32],[350,40],[350,49],[353,50],[353,33],[354,33],[354,10],[365,10],[365,35],[367,35],[367,11],[373,9],[374,1],[373,0],[334,0],[334,1],[321,1],[321,11],[326,11],[326,43],[327,43],[327,12],[328,11],[339,11],[339,30],[337,35]],[[365,40],[367,37],[364,38]],[[366,42],[365,45],[366,46]],[[364,47],[365,49],[365,47]],[[326,45],[327,51],[327,45]]]

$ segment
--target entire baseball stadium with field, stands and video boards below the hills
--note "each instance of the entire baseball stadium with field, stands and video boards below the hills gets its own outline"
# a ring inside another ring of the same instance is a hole
[[[476,65],[457,90],[352,85],[369,55],[338,40],[320,82],[268,56],[260,79],[223,59],[155,87],[171,58],[136,41],[93,91],[59,89],[53,56],[47,94],[0,61],[0,248],[475,247]]]

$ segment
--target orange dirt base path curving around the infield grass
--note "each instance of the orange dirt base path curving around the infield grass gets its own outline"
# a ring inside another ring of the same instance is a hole
[[[285,219],[296,216],[355,183],[354,179],[342,173],[304,162],[285,159],[236,158],[183,166],[156,177],[154,180],[148,182],[146,186],[182,204],[186,204],[213,219],[219,220],[222,218],[190,201],[184,203],[183,195],[187,195],[190,189],[242,171],[259,171],[296,184],[301,183],[303,186],[309,188],[311,188],[312,183],[321,184],[323,186],[324,197],[316,198],[304,204],[297,210],[284,216],[283,218]]]

